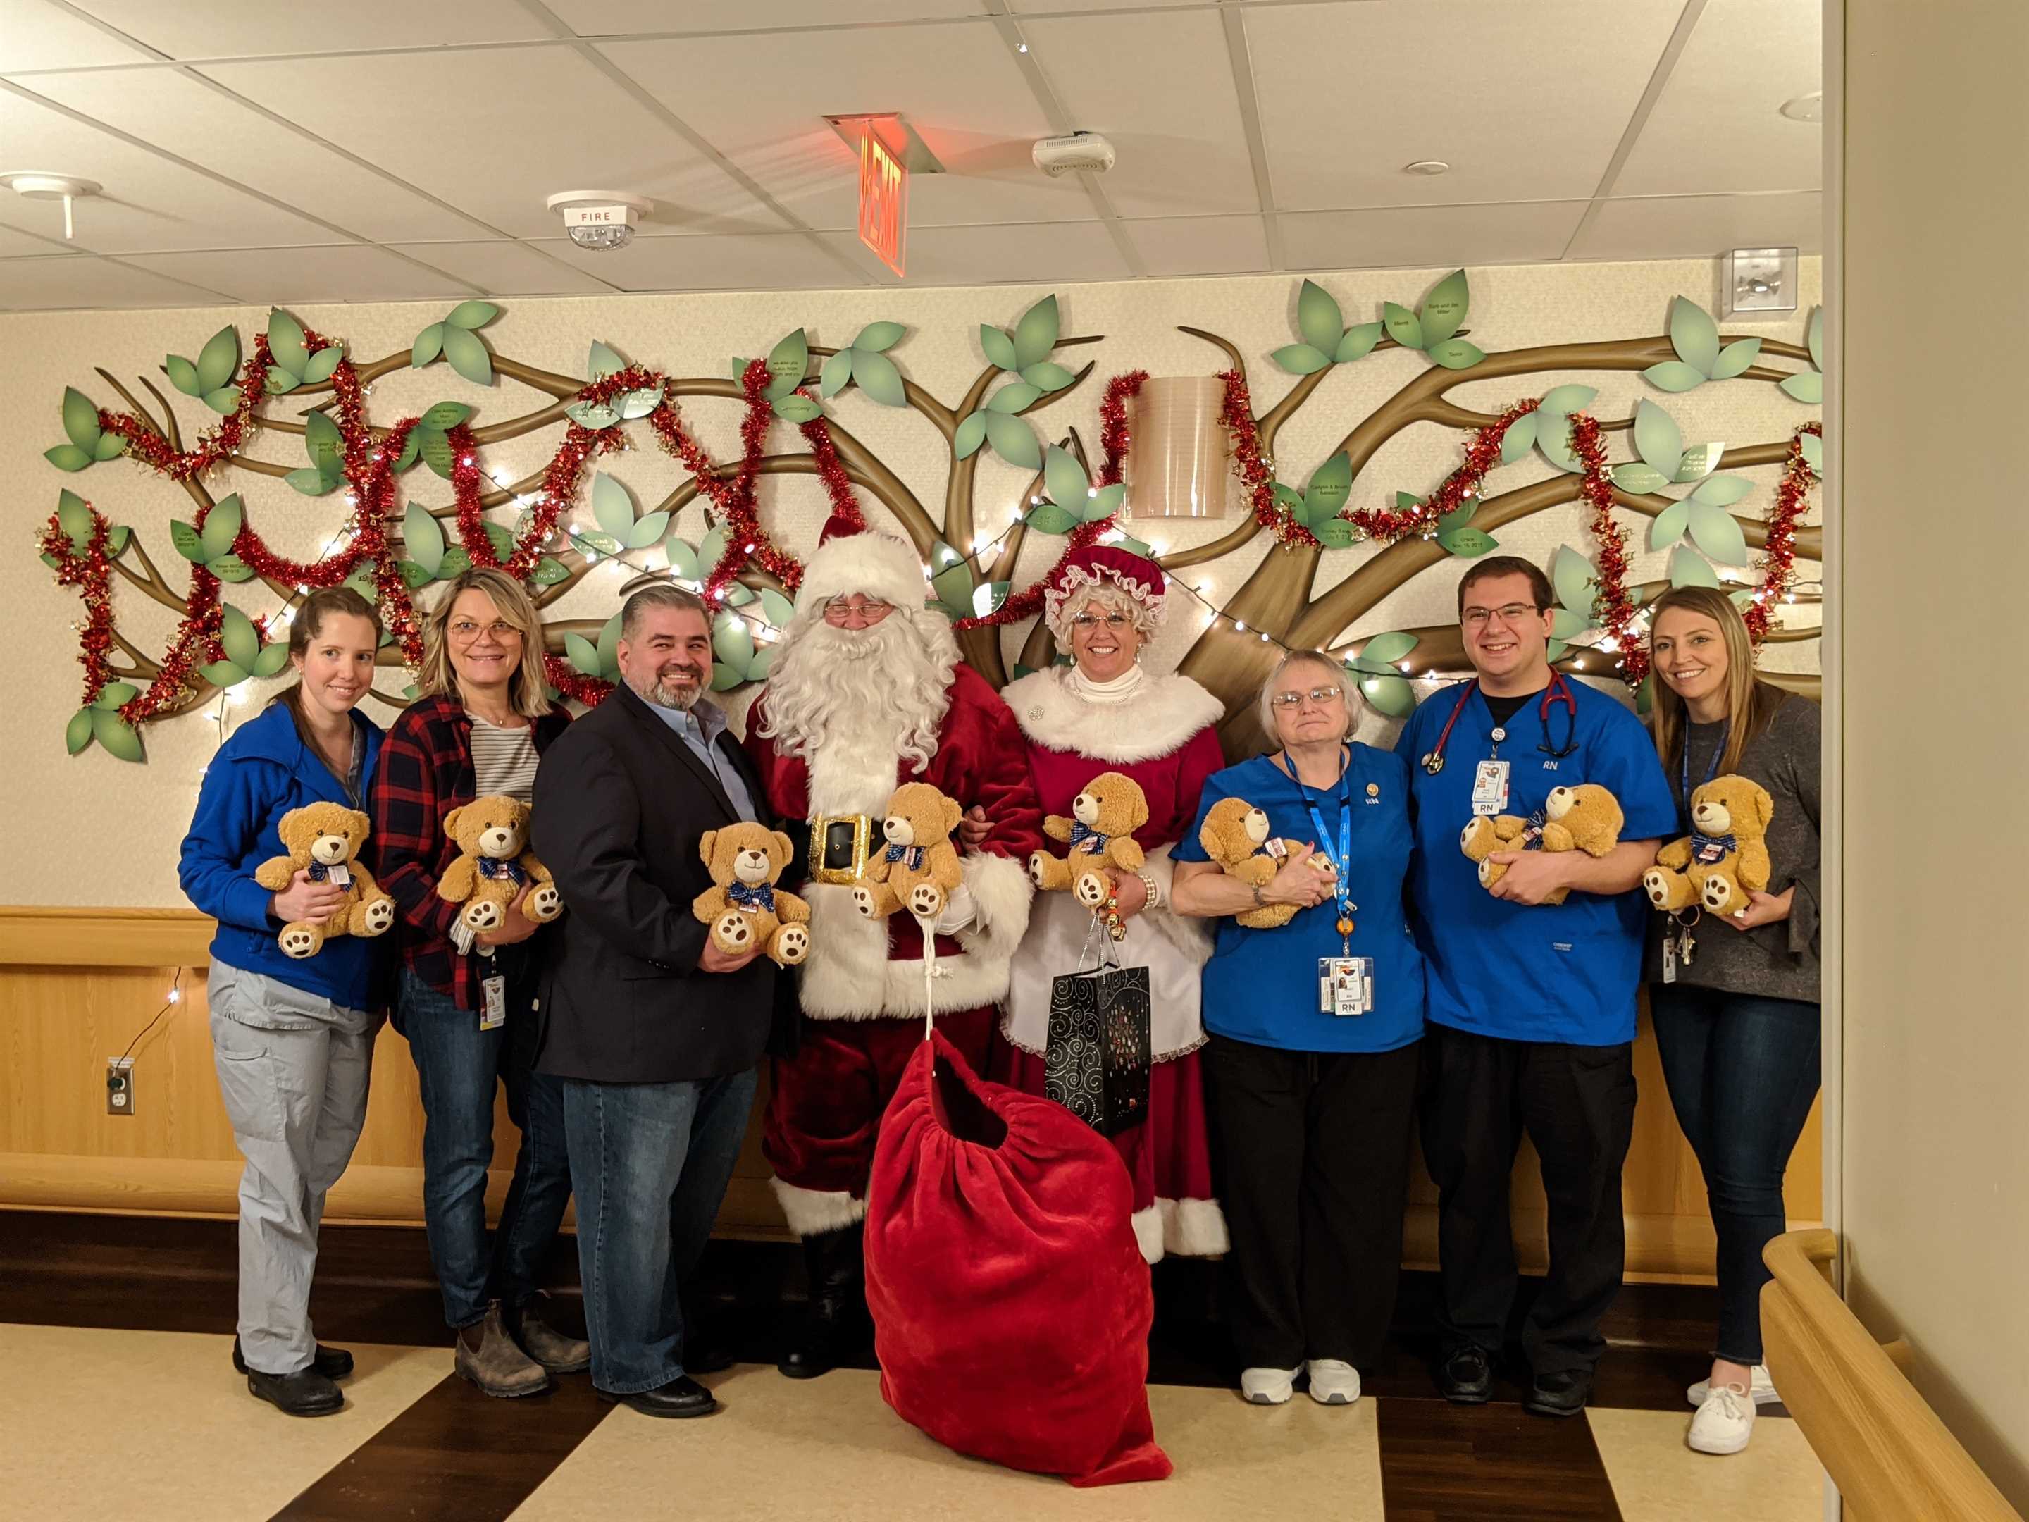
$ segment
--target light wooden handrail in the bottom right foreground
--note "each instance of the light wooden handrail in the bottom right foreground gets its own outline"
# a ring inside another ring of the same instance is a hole
[[[1761,1254],[1769,1376],[1818,1461],[1865,1522],[2021,1522],[2007,1498],[1938,1421],[1897,1360],[1838,1299],[1826,1230],[1788,1232]]]

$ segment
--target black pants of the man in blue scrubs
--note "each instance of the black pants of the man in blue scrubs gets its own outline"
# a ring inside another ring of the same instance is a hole
[[[1538,1374],[1585,1374],[1621,1289],[1621,1163],[1633,1136],[1633,1045],[1499,1041],[1445,1025],[1424,1035],[1422,1155],[1437,1181],[1445,1350],[1497,1358],[1516,1297],[1508,1179],[1522,1132],[1542,1159],[1550,1272],[1522,1325]]]

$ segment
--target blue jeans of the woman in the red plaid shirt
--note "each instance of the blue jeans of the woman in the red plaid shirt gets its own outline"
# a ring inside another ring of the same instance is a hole
[[[459,1009],[402,968],[396,1027],[408,1037],[422,1080],[422,1220],[444,1291],[444,1321],[471,1327],[487,1301],[519,1307],[538,1293],[542,1258],[570,1203],[564,1094],[534,1071],[540,1039],[532,1000],[534,964],[507,956],[507,1023],[479,1029],[479,1011]],[[521,1128],[507,1203],[487,1250],[487,1167],[493,1163],[493,1094],[507,1086],[507,1114]]]

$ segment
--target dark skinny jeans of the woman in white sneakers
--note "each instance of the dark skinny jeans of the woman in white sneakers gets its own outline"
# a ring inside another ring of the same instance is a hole
[[[1761,1250],[1786,1226],[1781,1175],[1818,1098],[1818,1005],[1650,984],[1670,1104],[1719,1234],[1719,1347],[1761,1362]]]

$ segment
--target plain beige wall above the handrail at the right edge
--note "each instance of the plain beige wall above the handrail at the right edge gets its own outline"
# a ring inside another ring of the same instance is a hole
[[[2029,8],[1844,12],[1846,1287],[2029,1508],[2029,889],[1995,830],[2029,777]]]

